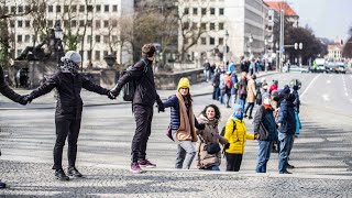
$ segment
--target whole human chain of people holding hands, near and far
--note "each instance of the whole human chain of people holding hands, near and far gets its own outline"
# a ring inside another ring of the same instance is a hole
[[[54,145],[53,169],[55,178],[69,180],[68,176],[82,177],[76,168],[77,141],[80,130],[82,100],[80,90],[85,88],[99,95],[116,99],[124,85],[135,81],[135,92],[132,99],[132,110],[135,118],[135,133],[131,145],[131,173],[143,173],[144,167],[156,167],[146,157],[148,136],[151,135],[153,106],[157,103],[157,111],[164,112],[170,108],[170,139],[175,141],[177,153],[175,168],[189,169],[194,160],[199,169],[220,170],[221,151],[226,156],[226,169],[239,172],[244,154],[245,141],[258,141],[258,155],[256,172],[265,173],[274,142],[278,145],[278,172],[288,174],[287,167],[295,134],[299,133],[298,113],[299,98],[298,85],[294,89],[285,86],[278,90],[278,82],[274,81],[268,89],[266,80],[255,82],[255,74],[249,74],[251,67],[237,73],[233,63],[228,68],[220,66],[215,72],[207,73],[206,80],[213,85],[212,99],[219,100],[226,107],[232,108],[232,116],[227,120],[226,127],[220,130],[220,108],[217,105],[207,105],[196,116],[194,99],[188,78],[179,79],[175,95],[162,101],[156,92],[152,65],[156,50],[153,44],[142,47],[142,59],[120,77],[118,84],[111,89],[102,88],[78,73],[81,57],[77,52],[67,52],[62,58],[64,65],[47,81],[31,94],[20,96],[7,86],[0,70],[0,91],[3,96],[21,105],[26,105],[50,91],[57,89],[57,106],[55,112],[56,141]],[[209,69],[213,66],[206,62]],[[0,67],[1,68],[1,67]],[[209,76],[209,79],[207,78]],[[226,98],[226,99],[224,99]],[[258,105],[254,116],[254,133],[249,133],[244,118],[253,119],[253,108]],[[221,131],[221,132],[220,132]],[[67,175],[62,166],[63,148],[68,142]],[[195,143],[196,142],[196,146]],[[6,187],[0,183],[0,187]]]

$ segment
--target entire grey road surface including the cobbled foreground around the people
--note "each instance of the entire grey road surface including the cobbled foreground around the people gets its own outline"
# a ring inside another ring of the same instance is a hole
[[[255,141],[246,144],[240,173],[209,174],[196,167],[190,172],[175,172],[176,145],[164,134],[169,112],[155,113],[148,143],[148,157],[158,168],[131,175],[127,172],[134,131],[131,107],[113,105],[85,108],[77,164],[87,178],[59,183],[53,179],[50,169],[55,138],[54,110],[1,110],[0,178],[11,188],[0,191],[0,197],[229,197],[234,194],[238,197],[351,197],[352,76],[282,74],[265,78],[278,79],[280,87],[292,78],[299,78],[304,84],[300,112],[304,130],[292,153],[292,164],[297,167],[293,175],[277,174],[276,154],[272,155],[267,174],[255,174]],[[209,85],[194,88],[195,91],[211,90]],[[212,102],[210,96],[195,97],[195,112],[200,112],[209,102]],[[224,107],[221,110],[222,127],[231,110]],[[251,121],[246,120],[246,124],[251,132]]]

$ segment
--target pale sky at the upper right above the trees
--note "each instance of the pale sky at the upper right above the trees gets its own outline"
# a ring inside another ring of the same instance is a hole
[[[308,24],[319,37],[346,40],[352,26],[352,0],[288,0],[299,15],[301,26]]]

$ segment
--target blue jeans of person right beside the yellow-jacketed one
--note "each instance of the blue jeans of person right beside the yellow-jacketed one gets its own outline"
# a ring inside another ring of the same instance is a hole
[[[273,141],[258,141],[258,153],[256,162],[256,173],[266,173],[266,164],[271,158]]]

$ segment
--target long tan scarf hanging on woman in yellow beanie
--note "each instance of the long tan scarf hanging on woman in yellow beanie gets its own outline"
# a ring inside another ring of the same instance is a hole
[[[176,97],[179,103],[179,128],[176,132],[176,138],[178,141],[197,142],[198,138],[195,130],[195,116],[194,116],[193,107],[189,106],[189,109],[188,109],[189,117],[188,117],[184,97],[179,92],[176,94]]]

